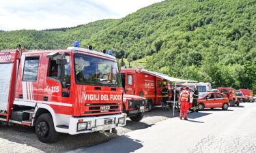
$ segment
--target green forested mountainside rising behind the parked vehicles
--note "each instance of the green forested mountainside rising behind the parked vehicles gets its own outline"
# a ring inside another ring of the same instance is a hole
[[[256,92],[255,8],[255,0],[163,1],[74,28],[1,31],[0,50],[67,48],[78,40],[152,71]]]

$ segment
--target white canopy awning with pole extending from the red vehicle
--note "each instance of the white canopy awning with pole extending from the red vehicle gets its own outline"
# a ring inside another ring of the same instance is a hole
[[[141,69],[142,72],[144,73],[149,73],[150,75],[154,75],[156,77],[159,77],[159,78],[162,78],[162,79],[165,79],[165,80],[168,80],[169,82],[174,82],[174,101],[173,101],[173,116],[174,116],[174,104],[175,104],[175,96],[176,96],[176,84],[177,83],[188,83],[188,82],[197,82],[195,80],[182,80],[182,79],[178,79],[178,78],[172,78],[172,77],[169,77],[168,75],[166,74],[163,74],[163,73],[158,73],[158,72],[154,72],[154,71],[148,71],[146,69]]]

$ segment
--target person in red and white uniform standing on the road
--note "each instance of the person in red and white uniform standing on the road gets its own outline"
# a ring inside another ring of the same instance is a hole
[[[188,120],[188,107],[189,107],[189,100],[190,100],[190,91],[188,90],[188,87],[186,87],[186,90],[183,90],[180,94],[180,120],[184,118],[184,120]]]

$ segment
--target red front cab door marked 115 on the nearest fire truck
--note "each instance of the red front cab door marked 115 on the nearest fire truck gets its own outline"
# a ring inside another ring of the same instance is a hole
[[[72,114],[72,84],[70,78],[70,55],[66,55],[66,65],[64,65],[63,78],[64,85],[61,86],[59,74],[61,68],[57,65],[57,58],[61,54],[54,57],[43,56],[42,67],[40,67],[40,95],[38,100],[43,103],[52,104],[51,107],[55,108],[55,112],[59,114]]]

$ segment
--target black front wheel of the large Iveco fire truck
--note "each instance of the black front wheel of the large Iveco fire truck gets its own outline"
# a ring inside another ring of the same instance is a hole
[[[42,114],[35,122],[35,133],[38,139],[44,143],[56,141],[58,133],[55,131],[53,119],[50,114]]]

